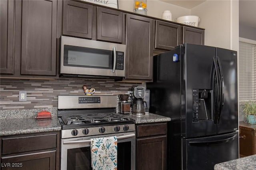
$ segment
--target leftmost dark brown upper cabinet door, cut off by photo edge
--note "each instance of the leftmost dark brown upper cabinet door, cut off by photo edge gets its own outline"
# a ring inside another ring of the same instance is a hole
[[[14,0],[1,0],[0,6],[0,72],[13,74]]]

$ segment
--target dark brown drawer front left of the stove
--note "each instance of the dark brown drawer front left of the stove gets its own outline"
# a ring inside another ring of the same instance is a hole
[[[2,154],[56,148],[56,140],[57,134],[3,138]]]

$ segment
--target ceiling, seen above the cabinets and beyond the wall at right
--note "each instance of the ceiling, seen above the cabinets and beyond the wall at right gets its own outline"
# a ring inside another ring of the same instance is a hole
[[[206,0],[160,0],[192,9]],[[256,28],[256,0],[239,0],[239,24]]]

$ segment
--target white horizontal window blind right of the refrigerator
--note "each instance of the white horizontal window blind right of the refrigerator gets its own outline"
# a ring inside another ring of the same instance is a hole
[[[239,101],[256,100],[256,45],[239,42]]]

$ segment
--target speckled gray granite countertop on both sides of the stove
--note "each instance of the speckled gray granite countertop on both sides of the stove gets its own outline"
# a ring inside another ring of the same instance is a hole
[[[35,119],[36,114],[44,109],[16,109],[0,111],[0,136],[50,132],[61,130],[57,109],[46,109],[52,113],[50,119]],[[143,116],[127,115],[136,124],[171,121],[171,118],[149,113]]]

